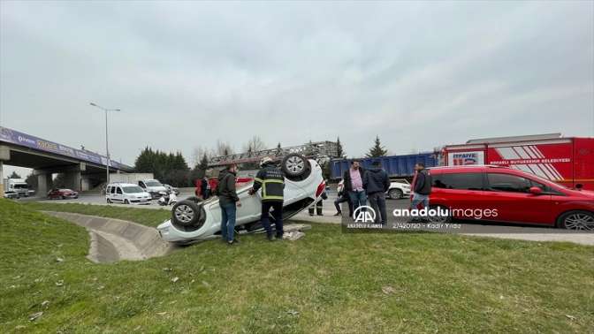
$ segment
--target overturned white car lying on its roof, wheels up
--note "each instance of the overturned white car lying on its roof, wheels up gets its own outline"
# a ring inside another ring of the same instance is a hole
[[[281,169],[286,178],[283,203],[285,220],[319,201],[324,193],[325,182],[320,165],[305,156],[285,156],[281,162]],[[237,208],[235,226],[247,231],[261,227],[261,196],[260,192],[254,195],[247,194],[251,187],[252,185],[248,184],[237,189],[241,207]],[[270,215],[270,223],[272,222],[274,218]],[[165,241],[179,244],[213,238],[221,230],[221,208],[217,197],[207,201],[201,201],[196,197],[179,201],[171,209],[171,219],[158,225],[156,229]]]

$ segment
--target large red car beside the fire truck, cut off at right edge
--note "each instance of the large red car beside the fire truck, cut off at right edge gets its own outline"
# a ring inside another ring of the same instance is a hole
[[[434,167],[430,175],[430,207],[450,209],[442,221],[454,217],[594,231],[592,191],[494,165]]]

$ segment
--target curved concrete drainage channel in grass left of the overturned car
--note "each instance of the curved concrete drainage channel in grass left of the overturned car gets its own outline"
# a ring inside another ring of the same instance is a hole
[[[176,248],[163,241],[156,229],[141,224],[69,212],[44,213],[87,228],[91,235],[88,259],[93,262],[146,260],[169,254]]]

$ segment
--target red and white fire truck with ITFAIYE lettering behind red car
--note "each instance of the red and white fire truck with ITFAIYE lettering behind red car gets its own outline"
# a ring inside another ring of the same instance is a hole
[[[594,190],[594,138],[560,133],[468,140],[448,145],[442,164],[494,164],[528,171],[563,186]]]

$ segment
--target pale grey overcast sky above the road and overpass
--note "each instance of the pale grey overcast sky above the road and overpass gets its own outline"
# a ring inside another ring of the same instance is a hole
[[[594,2],[0,2],[0,125],[133,164],[594,136]],[[6,172],[6,171],[5,171]],[[10,169],[9,169],[10,172]]]

